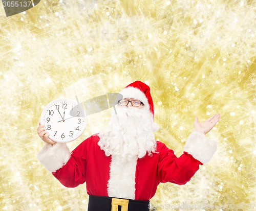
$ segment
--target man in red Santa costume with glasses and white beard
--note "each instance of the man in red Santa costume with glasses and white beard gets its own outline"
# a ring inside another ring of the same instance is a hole
[[[156,141],[154,104],[150,87],[141,81],[126,86],[123,99],[115,106],[108,129],[84,140],[73,152],[65,143],[49,138],[45,126],[38,135],[46,146],[38,159],[65,186],[86,182],[89,211],[144,211],[160,182],[185,184],[207,163],[217,143],[205,137],[220,115],[203,123],[195,118],[195,131],[188,136],[184,152],[174,151]]]

